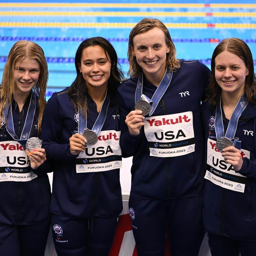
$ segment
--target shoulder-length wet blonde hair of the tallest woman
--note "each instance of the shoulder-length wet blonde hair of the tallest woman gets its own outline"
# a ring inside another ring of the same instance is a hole
[[[167,27],[161,22],[159,19],[151,19],[151,18],[144,18],[139,23],[135,25],[129,35],[129,42],[128,42],[128,53],[127,57],[129,60],[130,68],[128,71],[128,76],[130,77],[138,77],[142,72],[142,68],[138,65],[136,57],[133,55],[133,38],[141,33],[145,33],[152,28],[159,28],[164,32],[165,35],[165,42],[168,47],[170,47],[170,51],[166,53],[166,67],[170,71],[174,71],[180,67],[179,61],[177,60],[176,49],[173,44],[172,38],[170,36],[169,30]]]

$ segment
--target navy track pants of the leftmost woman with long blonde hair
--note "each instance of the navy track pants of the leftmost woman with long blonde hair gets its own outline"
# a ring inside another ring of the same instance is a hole
[[[0,225],[0,255],[44,256],[50,222],[36,225]]]

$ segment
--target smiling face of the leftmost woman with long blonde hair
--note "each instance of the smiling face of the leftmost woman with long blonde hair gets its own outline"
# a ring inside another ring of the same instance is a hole
[[[29,95],[37,83],[40,75],[40,66],[35,59],[26,57],[17,61],[14,67],[14,94]]]

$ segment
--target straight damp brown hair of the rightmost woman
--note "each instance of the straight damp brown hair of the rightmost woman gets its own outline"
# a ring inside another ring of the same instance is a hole
[[[215,58],[223,51],[229,51],[232,54],[237,55],[243,60],[244,65],[249,71],[249,74],[245,78],[244,91],[246,99],[250,102],[254,102],[256,94],[256,78],[254,74],[253,58],[249,46],[239,38],[226,38],[221,41],[215,48],[211,58],[211,80],[206,90],[207,100],[211,105],[216,106],[220,101],[221,88],[216,82],[215,78]]]

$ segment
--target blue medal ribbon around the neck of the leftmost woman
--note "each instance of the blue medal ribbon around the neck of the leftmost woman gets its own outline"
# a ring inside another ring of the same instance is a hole
[[[4,107],[4,119],[5,119],[5,123],[6,123],[6,126],[5,126],[6,130],[14,138],[14,140],[19,141],[19,143],[23,145],[24,142],[22,142],[22,141],[27,141],[29,138],[29,134],[30,134],[34,116],[35,116],[35,111],[36,111],[36,95],[35,95],[35,93],[33,91],[31,93],[28,112],[27,112],[25,124],[24,124],[20,138],[18,138],[18,136],[14,132],[13,114],[12,114],[12,111],[10,111],[10,109],[11,109],[10,102],[8,102],[8,104],[6,104]],[[26,142],[25,142],[25,144],[26,144]]]

